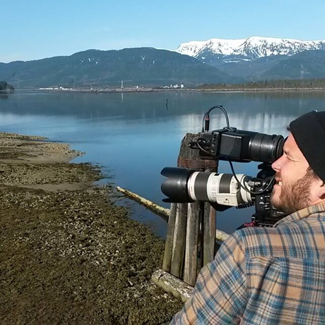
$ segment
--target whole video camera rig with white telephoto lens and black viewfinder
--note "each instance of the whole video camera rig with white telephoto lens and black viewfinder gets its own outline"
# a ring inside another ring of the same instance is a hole
[[[226,127],[209,132],[210,112],[219,108],[226,118]],[[230,207],[246,208],[255,205],[255,213],[249,225],[272,226],[285,216],[271,206],[271,192],[275,184],[275,172],[271,168],[283,152],[284,138],[230,127],[228,114],[222,106],[213,106],[203,117],[202,132],[189,147],[200,150],[203,159],[229,161],[232,174],[198,172],[187,168],[167,167],[161,175],[167,179],[161,191],[168,197],[164,202],[186,203],[207,201],[217,211]],[[256,177],[236,175],[232,161],[247,163],[259,161]],[[245,224],[248,225],[248,224]]]

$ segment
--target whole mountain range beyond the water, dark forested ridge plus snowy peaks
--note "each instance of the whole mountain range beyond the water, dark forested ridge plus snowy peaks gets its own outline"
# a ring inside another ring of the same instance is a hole
[[[215,51],[221,50],[213,48],[220,39],[213,40],[210,47],[201,47],[194,56],[144,47],[90,49],[69,56],[0,63],[0,79],[15,88],[117,88],[121,81],[125,87],[195,87],[206,83],[325,78],[325,41],[297,41],[291,46],[296,40],[226,40],[220,54]]]

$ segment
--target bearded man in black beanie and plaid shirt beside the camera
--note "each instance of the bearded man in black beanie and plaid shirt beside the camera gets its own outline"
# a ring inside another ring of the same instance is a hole
[[[290,123],[272,168],[291,214],[229,236],[172,324],[325,324],[325,112]]]

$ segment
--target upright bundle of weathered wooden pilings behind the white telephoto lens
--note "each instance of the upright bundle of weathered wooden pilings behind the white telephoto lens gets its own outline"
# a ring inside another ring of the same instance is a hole
[[[202,159],[199,150],[189,148],[198,134],[186,134],[182,140],[177,166],[198,171],[216,171],[217,162]],[[207,203],[204,205],[204,222],[200,228],[200,203],[177,203],[171,205],[163,270],[183,278],[184,282],[194,285],[197,277],[198,241],[200,230],[203,232],[203,261],[200,267],[211,262],[214,257],[215,210]],[[204,225],[204,226],[203,226]]]

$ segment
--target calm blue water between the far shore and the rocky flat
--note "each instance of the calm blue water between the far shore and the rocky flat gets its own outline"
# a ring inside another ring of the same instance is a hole
[[[166,100],[168,99],[168,109]],[[285,127],[312,109],[325,110],[325,92],[295,93],[51,93],[0,95],[0,131],[46,136],[85,151],[75,162],[99,164],[114,182],[163,206],[160,171],[176,166],[186,133],[201,131],[202,117],[223,105],[237,128],[286,135]],[[210,129],[225,126],[223,114],[211,113]],[[236,172],[256,175],[255,163],[235,164]],[[230,173],[220,163],[219,172]],[[164,236],[166,222],[136,203],[132,217]],[[250,220],[252,209],[218,213],[218,228],[232,232]]]

